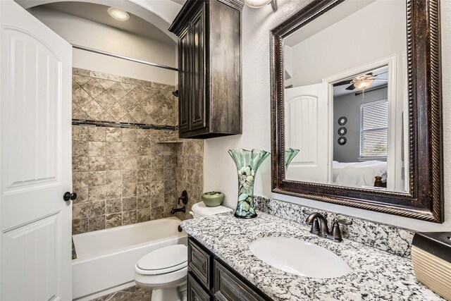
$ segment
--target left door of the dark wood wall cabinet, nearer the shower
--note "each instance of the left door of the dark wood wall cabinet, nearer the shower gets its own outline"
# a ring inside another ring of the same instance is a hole
[[[178,126],[180,133],[190,130],[189,108],[192,98],[191,90],[191,51],[190,51],[190,35],[186,28],[179,37],[178,42],[179,54],[179,95],[178,95]]]

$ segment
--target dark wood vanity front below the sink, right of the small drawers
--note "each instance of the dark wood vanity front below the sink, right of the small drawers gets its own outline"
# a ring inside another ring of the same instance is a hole
[[[214,297],[219,301],[266,300],[216,259],[214,260]]]

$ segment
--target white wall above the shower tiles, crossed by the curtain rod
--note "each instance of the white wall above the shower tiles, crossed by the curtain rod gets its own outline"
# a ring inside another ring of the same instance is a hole
[[[113,54],[142,59],[152,63],[177,67],[176,44],[164,44],[146,37],[101,25],[83,18],[46,8],[30,8],[36,18],[54,30],[71,44],[108,51]],[[177,72],[94,54],[73,50],[73,66],[129,78],[177,84]]]

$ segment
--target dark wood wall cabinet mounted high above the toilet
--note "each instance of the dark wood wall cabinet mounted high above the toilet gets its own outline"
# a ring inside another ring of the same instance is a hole
[[[188,0],[169,30],[178,35],[179,135],[241,134],[239,0]]]

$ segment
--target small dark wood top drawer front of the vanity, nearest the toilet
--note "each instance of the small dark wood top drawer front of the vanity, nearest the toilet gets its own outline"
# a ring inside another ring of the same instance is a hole
[[[192,239],[188,240],[188,269],[205,285],[211,288],[211,263],[213,256],[202,250]]]

